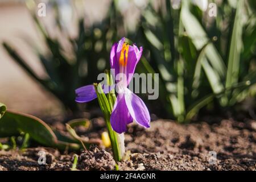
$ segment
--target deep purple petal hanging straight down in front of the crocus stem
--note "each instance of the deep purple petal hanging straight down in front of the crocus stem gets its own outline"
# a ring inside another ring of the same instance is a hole
[[[126,125],[133,122],[125,104],[125,94],[118,94],[110,116],[110,123],[114,131],[121,134],[126,131]]]

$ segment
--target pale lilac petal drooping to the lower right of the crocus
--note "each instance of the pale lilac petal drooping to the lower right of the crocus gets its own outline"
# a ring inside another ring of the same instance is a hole
[[[150,114],[144,102],[129,89],[125,88],[125,102],[131,117],[144,127],[150,127]]]

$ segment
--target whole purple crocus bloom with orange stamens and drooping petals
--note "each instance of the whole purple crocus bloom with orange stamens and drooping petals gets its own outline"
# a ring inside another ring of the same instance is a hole
[[[141,59],[142,47],[138,49],[135,44],[129,46],[125,38],[114,43],[110,52],[110,68],[117,80],[117,100],[115,101],[110,123],[117,133],[126,131],[126,125],[136,121],[139,125],[150,127],[150,114],[144,102],[127,88],[133,77],[135,67]],[[93,85],[76,89],[76,101],[88,102],[97,97]]]

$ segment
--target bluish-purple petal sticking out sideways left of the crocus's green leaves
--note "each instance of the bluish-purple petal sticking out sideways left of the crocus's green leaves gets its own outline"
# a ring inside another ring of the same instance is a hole
[[[94,85],[82,86],[75,90],[76,102],[89,102],[97,98],[97,94],[94,89]]]

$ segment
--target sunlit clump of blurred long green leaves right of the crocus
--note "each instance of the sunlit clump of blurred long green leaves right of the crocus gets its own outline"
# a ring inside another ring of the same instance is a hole
[[[246,1],[217,8],[217,17],[209,18],[190,1],[181,1],[180,9],[162,1],[142,13],[139,30],[150,52],[145,67],[160,73],[167,94],[159,98],[177,121],[189,121],[214,98],[217,108],[233,106],[255,84],[255,11]]]

